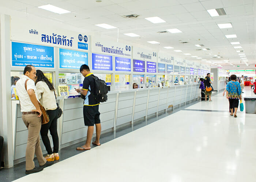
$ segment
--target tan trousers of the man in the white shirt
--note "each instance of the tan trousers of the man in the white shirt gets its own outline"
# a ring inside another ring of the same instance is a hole
[[[37,156],[37,160],[40,166],[46,163],[46,159],[43,156],[40,146],[40,129],[41,129],[41,117],[37,117],[38,114],[22,115],[22,120],[29,130],[27,137],[26,148],[26,170],[34,169],[35,163],[33,161],[34,156]]]

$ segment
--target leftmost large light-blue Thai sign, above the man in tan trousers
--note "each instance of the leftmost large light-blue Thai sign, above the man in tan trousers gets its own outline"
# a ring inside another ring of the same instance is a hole
[[[12,66],[54,68],[54,48],[12,42]]]

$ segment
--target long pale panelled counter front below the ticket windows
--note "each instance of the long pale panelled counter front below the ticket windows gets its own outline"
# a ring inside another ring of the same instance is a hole
[[[165,112],[167,115],[167,110],[174,110],[175,106],[191,102],[199,96],[199,84],[109,92],[108,101],[99,105],[102,133],[114,131],[115,134],[118,127],[127,124],[131,124],[133,128],[133,123],[141,119],[146,120],[147,124],[148,117],[158,117],[159,112]],[[84,126],[83,100],[81,98],[57,97],[57,100],[60,107],[63,108],[63,115],[58,119],[57,128],[61,149],[86,139],[87,127]],[[21,116],[19,101],[13,100],[14,163],[25,161],[27,128]],[[52,145],[50,134],[49,137]],[[46,153],[42,141],[41,147]]]

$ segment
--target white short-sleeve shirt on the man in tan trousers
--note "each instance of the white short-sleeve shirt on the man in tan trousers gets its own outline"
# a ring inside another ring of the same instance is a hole
[[[19,96],[21,112],[29,112],[29,111],[35,110],[35,106],[31,102],[29,94],[25,89],[25,81],[27,79],[29,79],[27,81],[27,90],[29,89],[34,90],[35,96],[38,100],[37,89],[35,88],[35,82],[29,77],[27,77],[26,75],[22,75],[21,78],[16,83],[16,94]]]

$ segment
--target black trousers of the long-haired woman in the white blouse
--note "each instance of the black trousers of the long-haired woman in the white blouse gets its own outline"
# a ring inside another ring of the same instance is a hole
[[[40,134],[42,137],[42,141],[44,143],[45,149],[48,154],[58,153],[59,151],[59,137],[57,132],[57,109],[56,110],[47,110],[47,114],[49,115],[50,121],[47,124],[42,124]],[[50,145],[50,140],[48,137],[48,131],[50,130],[50,134],[52,135],[53,141],[53,151]]]

